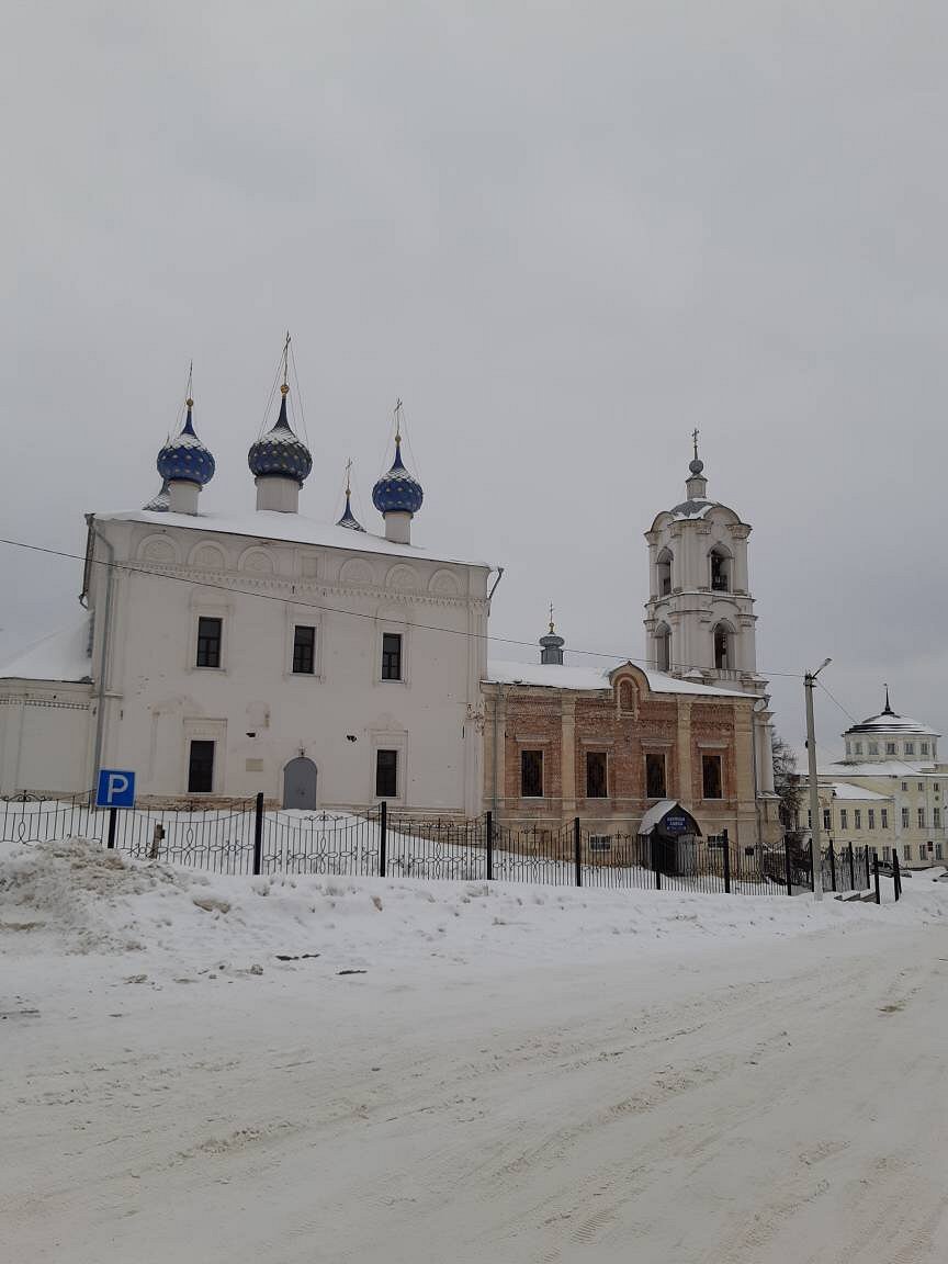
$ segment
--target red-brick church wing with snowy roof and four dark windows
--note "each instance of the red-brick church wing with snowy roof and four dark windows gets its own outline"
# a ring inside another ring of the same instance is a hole
[[[569,667],[546,645],[544,657],[490,662],[482,686],[484,806],[498,822],[559,828],[578,815],[637,833],[652,804],[676,799],[705,836],[777,838],[774,800],[755,794],[753,694],[631,662]]]

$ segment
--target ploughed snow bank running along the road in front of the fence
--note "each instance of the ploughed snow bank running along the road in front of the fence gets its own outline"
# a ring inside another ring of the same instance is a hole
[[[891,884],[887,899],[891,900]],[[940,920],[948,884],[905,884],[897,906],[806,897],[598,891],[411,878],[211,876],[144,863],[81,839],[4,844],[0,949],[157,951],[171,961],[249,963],[320,956],[341,967],[434,957],[570,961],[689,951],[834,927]]]

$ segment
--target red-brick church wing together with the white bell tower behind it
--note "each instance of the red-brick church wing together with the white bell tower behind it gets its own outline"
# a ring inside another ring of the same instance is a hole
[[[707,498],[703,470],[695,451],[686,499],[646,533],[645,666],[568,666],[552,622],[540,664],[488,664],[484,803],[502,823],[559,829],[580,815],[603,836],[636,833],[671,799],[704,834],[779,841],[751,528]]]

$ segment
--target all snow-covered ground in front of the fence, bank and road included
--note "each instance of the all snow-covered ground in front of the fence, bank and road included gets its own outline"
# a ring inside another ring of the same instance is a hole
[[[3,848],[3,1260],[948,1259],[948,884],[817,908]]]

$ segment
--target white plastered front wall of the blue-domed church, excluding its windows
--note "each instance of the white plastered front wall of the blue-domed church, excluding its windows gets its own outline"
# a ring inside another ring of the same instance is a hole
[[[396,803],[480,810],[485,568],[107,527],[120,556],[191,580],[123,574],[115,585],[102,763],[135,769],[140,796],[186,794],[190,742],[206,739],[215,796],[282,800],[283,767],[302,753],[320,805],[365,805],[375,751],[393,748]],[[96,600],[101,612],[101,583]],[[202,614],[222,619],[221,669],[195,666]],[[292,672],[296,623],[316,627],[313,676]],[[380,679],[384,631],[403,636],[401,681]]]

